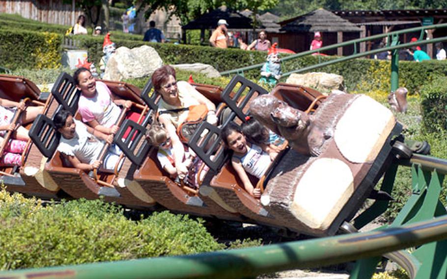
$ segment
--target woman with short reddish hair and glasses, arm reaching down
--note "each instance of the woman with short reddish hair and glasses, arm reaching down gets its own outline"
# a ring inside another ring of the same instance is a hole
[[[188,168],[182,162],[184,156],[183,144],[177,135],[177,127],[187,120],[192,106],[204,105],[207,109],[206,121],[217,124],[216,106],[205,96],[200,94],[191,84],[175,78],[175,70],[169,65],[158,68],[152,74],[152,85],[160,93],[158,105],[158,120],[164,125],[172,141],[175,154],[175,168],[180,179],[188,173]]]

